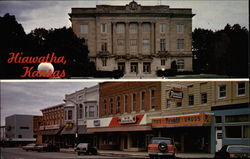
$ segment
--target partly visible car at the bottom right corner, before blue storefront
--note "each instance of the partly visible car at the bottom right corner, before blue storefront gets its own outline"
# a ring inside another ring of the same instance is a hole
[[[224,145],[214,158],[250,158],[250,146],[247,145]]]

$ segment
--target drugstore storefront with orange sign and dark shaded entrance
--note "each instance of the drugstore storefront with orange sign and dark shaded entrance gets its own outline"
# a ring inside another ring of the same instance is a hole
[[[210,152],[211,113],[152,117],[158,136],[174,139],[179,152]]]

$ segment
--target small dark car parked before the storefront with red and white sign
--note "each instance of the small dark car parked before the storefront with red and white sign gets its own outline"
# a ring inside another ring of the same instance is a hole
[[[78,155],[81,155],[81,153],[96,155],[97,149],[89,143],[79,143],[75,148],[75,152],[77,152]]]

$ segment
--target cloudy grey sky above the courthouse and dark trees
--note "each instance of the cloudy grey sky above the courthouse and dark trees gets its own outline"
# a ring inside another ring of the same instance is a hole
[[[35,28],[71,26],[68,13],[73,7],[96,5],[125,5],[131,0],[45,0],[0,1],[0,16],[15,15],[26,33]],[[135,0],[141,5],[169,5],[170,8],[192,8],[193,29],[223,29],[226,24],[240,24],[249,29],[248,0]]]

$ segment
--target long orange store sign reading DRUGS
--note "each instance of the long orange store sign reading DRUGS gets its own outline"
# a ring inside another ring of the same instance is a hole
[[[205,113],[152,119],[153,127],[202,126],[210,123],[211,115]]]

